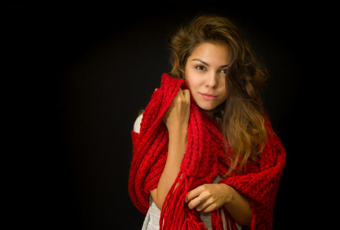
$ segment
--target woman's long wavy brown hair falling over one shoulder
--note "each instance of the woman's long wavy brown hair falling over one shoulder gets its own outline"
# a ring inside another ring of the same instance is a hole
[[[227,158],[230,167],[226,175],[235,171],[238,164],[236,173],[239,173],[247,161],[257,162],[266,145],[260,90],[267,83],[268,72],[255,60],[243,35],[228,19],[199,15],[169,39],[172,66],[169,75],[185,79],[188,57],[197,46],[206,42],[226,44],[230,48],[231,59],[226,71],[229,97],[215,108],[213,118],[222,126],[223,136],[233,152],[233,157]]]

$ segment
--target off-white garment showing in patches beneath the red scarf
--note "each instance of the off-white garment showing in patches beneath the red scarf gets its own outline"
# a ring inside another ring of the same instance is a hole
[[[137,133],[139,133],[140,130],[140,123],[142,122],[143,114],[139,115],[134,123],[133,130]],[[214,179],[213,183],[218,183],[222,177],[219,175],[216,176]],[[204,222],[204,225],[209,229],[212,230],[212,225],[211,225],[211,213],[210,212],[203,212],[200,211],[201,214],[201,219]],[[146,213],[144,223],[142,226],[142,230],[156,230],[159,229],[159,218],[160,218],[160,210],[152,200],[151,195],[149,196],[149,209]],[[223,220],[223,229],[226,228],[226,220],[224,217],[224,213],[222,211],[222,220]],[[241,226],[239,226],[236,223],[237,229],[241,230]],[[230,226],[231,228],[231,226]]]

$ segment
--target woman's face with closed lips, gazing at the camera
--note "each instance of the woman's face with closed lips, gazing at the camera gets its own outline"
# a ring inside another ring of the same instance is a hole
[[[193,99],[210,116],[228,97],[225,78],[229,54],[227,45],[202,43],[186,63],[185,80]]]

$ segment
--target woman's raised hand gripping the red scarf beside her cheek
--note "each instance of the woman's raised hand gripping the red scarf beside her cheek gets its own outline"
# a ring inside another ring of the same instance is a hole
[[[189,115],[190,91],[180,88],[163,117],[168,132],[188,131]]]

